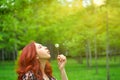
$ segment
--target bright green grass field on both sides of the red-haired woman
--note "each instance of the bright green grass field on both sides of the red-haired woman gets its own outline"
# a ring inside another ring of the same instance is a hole
[[[68,59],[66,64],[66,72],[69,80],[106,80],[106,61],[98,60],[98,74],[95,70],[95,60],[92,61],[92,67],[86,67],[86,61],[79,64],[74,59]],[[53,67],[53,75],[60,79],[60,72],[56,61],[51,62]],[[0,80],[17,80],[15,73],[15,63],[11,61],[0,62]],[[110,80],[120,80],[120,63],[118,61],[110,61]]]

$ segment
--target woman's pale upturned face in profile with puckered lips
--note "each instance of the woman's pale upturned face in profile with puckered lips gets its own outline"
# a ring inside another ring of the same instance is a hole
[[[46,46],[43,46],[38,43],[35,43],[35,46],[36,46],[37,57],[39,57],[39,59],[49,59],[51,57],[50,51]]]

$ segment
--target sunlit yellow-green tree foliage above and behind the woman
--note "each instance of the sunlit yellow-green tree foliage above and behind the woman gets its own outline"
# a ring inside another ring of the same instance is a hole
[[[83,7],[77,1],[1,0],[0,50],[11,54],[35,40],[52,47],[53,51],[53,45],[59,43],[63,47],[60,47],[63,54],[68,51],[71,56],[85,55],[88,42],[94,52],[96,36],[98,53],[102,54],[106,49],[106,16],[110,48],[119,48],[120,1],[107,0],[100,7],[93,4]]]

